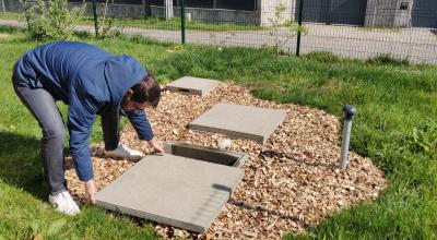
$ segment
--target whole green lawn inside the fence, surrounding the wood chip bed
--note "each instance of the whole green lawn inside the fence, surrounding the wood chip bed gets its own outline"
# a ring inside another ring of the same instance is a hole
[[[0,236],[22,238],[32,235],[34,221],[49,229],[55,219],[66,218],[60,236],[152,238],[147,224],[96,207],[86,207],[78,217],[48,207],[39,128],[10,81],[13,62],[36,43],[20,33],[0,36]],[[387,58],[343,60],[327,53],[298,59],[245,48],[158,45],[140,37],[88,41],[137,57],[161,82],[184,75],[234,80],[258,97],[321,108],[339,118],[344,104],[356,105],[351,148],[386,172],[389,188],[376,202],[342,211],[306,235],[286,239],[437,238],[436,67]],[[98,125],[95,130],[93,140],[101,141]]]

